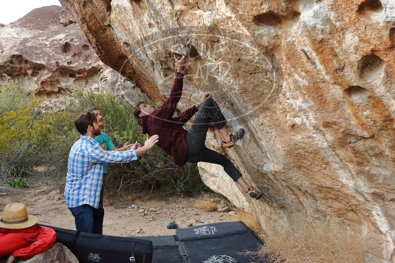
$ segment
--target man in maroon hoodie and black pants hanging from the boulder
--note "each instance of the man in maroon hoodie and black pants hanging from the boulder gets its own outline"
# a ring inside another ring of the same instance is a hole
[[[180,166],[186,162],[220,164],[224,167],[225,172],[246,190],[250,197],[260,199],[262,193],[247,185],[241,173],[228,158],[204,146],[210,121],[213,121],[219,130],[227,148],[232,148],[236,141],[244,135],[244,129],[239,129],[235,134],[228,132],[225,127],[227,121],[210,94],[205,93],[199,102],[173,118],[182,94],[184,78],[182,70],[185,63],[185,56],[182,56],[181,59],[173,56],[177,72],[169,98],[156,110],[145,101],[134,105],[133,114],[138,120],[141,131],[149,135],[158,134],[163,138],[158,142],[158,146],[172,157],[175,164]],[[193,121],[192,129],[187,132],[183,125],[196,112],[197,116]]]

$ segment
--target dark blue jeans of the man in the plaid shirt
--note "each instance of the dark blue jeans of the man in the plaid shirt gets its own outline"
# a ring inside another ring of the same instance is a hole
[[[69,207],[76,222],[76,229],[79,232],[103,234],[104,209],[99,205],[93,208],[89,204],[77,207]]]

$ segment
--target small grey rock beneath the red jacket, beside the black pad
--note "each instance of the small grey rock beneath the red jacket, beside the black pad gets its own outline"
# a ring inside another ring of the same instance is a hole
[[[49,250],[21,263],[78,263],[78,259],[63,244],[55,243]]]

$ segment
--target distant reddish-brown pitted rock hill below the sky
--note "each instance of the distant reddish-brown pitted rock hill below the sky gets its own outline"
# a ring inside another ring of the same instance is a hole
[[[0,81],[3,74],[46,98],[48,107],[75,86],[101,86],[120,94],[135,90],[100,61],[66,8],[56,5],[0,26]]]

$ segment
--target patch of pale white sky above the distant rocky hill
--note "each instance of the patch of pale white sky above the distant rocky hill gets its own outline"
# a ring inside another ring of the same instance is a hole
[[[1,0],[0,23],[9,24],[35,8],[53,4],[61,5],[59,0]]]

